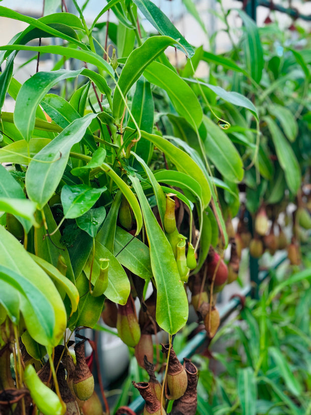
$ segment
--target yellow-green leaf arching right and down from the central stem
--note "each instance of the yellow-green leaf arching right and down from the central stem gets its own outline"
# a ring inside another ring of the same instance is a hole
[[[202,204],[206,207],[211,200],[209,183],[203,171],[192,158],[160,135],[148,134],[145,131],[141,131],[141,136],[153,143],[160,151],[164,152],[166,157],[175,164],[179,171],[186,173],[200,183],[202,190]]]

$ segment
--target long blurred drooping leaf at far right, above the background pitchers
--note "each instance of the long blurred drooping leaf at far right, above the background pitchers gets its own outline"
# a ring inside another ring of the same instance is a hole
[[[296,156],[288,141],[272,118],[266,116],[264,117],[264,120],[270,130],[277,159],[280,166],[284,170],[288,188],[291,192],[296,194],[301,185],[301,172]]]

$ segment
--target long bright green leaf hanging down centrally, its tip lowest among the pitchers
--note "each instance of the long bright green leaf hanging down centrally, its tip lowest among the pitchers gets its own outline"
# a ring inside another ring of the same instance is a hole
[[[158,292],[157,322],[165,331],[175,334],[185,326],[188,318],[187,296],[171,245],[150,209],[139,180],[135,177],[130,179],[141,205],[149,243],[151,269]]]

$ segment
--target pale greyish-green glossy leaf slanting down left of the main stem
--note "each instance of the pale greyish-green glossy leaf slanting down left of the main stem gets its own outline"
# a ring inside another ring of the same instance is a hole
[[[79,143],[96,114],[87,114],[66,127],[30,162],[26,173],[28,196],[38,209],[51,198],[65,171],[71,147]]]

